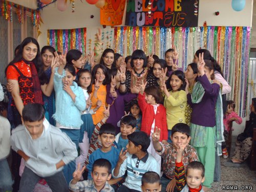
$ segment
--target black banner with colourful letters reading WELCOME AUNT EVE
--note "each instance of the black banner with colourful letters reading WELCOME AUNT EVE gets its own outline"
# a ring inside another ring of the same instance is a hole
[[[198,9],[199,0],[127,0],[125,25],[196,27]]]

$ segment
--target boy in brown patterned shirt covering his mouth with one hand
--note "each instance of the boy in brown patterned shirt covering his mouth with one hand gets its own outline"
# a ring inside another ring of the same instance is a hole
[[[152,136],[153,145],[156,152],[163,158],[163,175],[161,178],[162,191],[175,188],[175,162],[177,158],[177,150],[180,145],[185,146],[185,150],[182,153],[182,162],[184,168],[191,161],[198,161],[196,150],[193,146],[189,145],[190,141],[190,129],[185,123],[177,123],[172,129],[172,143],[163,144],[159,142],[160,129],[155,130]]]

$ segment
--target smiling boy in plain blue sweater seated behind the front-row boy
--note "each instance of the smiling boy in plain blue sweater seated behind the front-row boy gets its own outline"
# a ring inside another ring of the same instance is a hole
[[[101,147],[89,156],[89,164],[87,165],[88,179],[92,179],[92,165],[97,159],[108,159],[112,169],[116,166],[120,150],[117,150],[116,147],[112,146],[116,138],[115,132],[115,127],[110,123],[105,123],[100,127],[98,138],[101,141]]]

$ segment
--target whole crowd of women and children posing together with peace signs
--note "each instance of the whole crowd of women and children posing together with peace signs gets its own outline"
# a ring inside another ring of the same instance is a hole
[[[183,73],[175,49],[165,52],[165,60],[146,57],[142,50],[120,60],[106,49],[96,65],[92,55],[83,57],[78,50],[57,54],[47,46],[38,56],[34,40],[22,42],[14,59],[19,63],[12,61],[6,70],[11,111],[24,124],[11,138],[12,149],[25,160],[20,191],[32,191],[39,179],[53,191],[60,191],[54,182],[67,182],[73,191],[203,191],[202,182],[204,189],[211,187],[217,148],[224,141],[225,83],[215,79],[217,64],[205,58],[208,50],[196,53]],[[43,75],[38,63],[44,65]],[[19,95],[18,90],[28,90],[22,77],[41,87],[47,111],[30,104],[37,94]],[[233,108],[229,103],[225,125],[241,123]]]

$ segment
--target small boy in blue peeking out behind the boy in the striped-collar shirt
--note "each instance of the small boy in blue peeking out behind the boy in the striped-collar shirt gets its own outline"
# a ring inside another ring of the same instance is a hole
[[[127,136],[136,130],[136,119],[131,115],[123,116],[120,120],[120,133],[116,135],[115,145],[119,150],[128,144]]]

